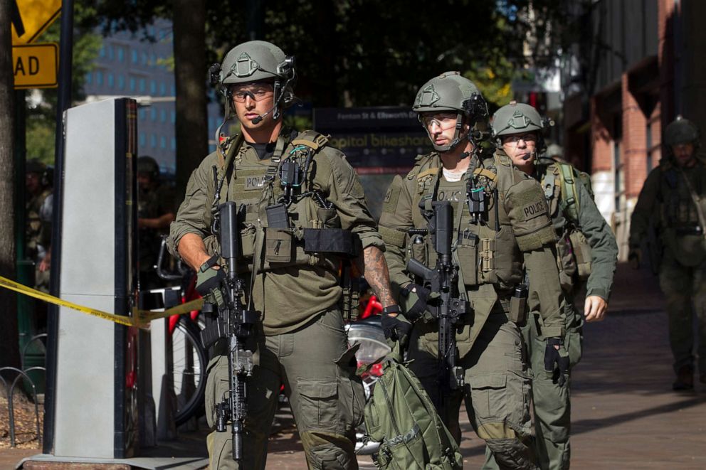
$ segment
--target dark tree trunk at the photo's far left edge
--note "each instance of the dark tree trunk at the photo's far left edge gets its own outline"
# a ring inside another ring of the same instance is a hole
[[[11,2],[0,1],[0,276],[14,279],[15,252],[15,100],[11,48]],[[22,187],[20,185],[20,187]],[[0,366],[20,364],[17,294],[0,287]]]

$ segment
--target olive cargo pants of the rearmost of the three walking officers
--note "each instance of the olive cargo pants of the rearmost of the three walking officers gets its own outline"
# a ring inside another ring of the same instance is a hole
[[[563,386],[554,383],[544,372],[546,343],[541,338],[538,316],[530,315],[522,327],[522,338],[527,345],[532,377],[532,406],[534,410],[534,454],[542,470],[569,469],[571,462],[571,368],[581,360],[584,320],[574,307],[574,298],[567,294],[564,306],[564,346],[569,353],[569,377]],[[490,449],[485,452],[483,469],[497,469]]]

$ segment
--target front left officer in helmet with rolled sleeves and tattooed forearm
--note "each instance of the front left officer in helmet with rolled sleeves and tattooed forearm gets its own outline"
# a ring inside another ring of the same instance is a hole
[[[251,287],[245,301],[261,319],[255,372],[247,382],[242,468],[265,468],[284,385],[310,468],[354,469],[364,392],[339,308],[342,259],[362,250],[357,261],[365,279],[387,311],[399,308],[390,292],[384,243],[355,171],[327,137],[283,127],[283,110],[295,99],[294,65],[277,46],[250,41],[228,52],[220,70],[211,69],[226,97],[226,119],[238,117],[243,139],[223,139],[192,173],[169,245],[204,285],[218,268],[207,263],[218,252],[212,208],[238,204],[238,266]],[[351,251],[356,240],[358,250]],[[214,402],[227,390],[228,361],[217,356],[206,384],[211,426]],[[208,447],[211,468],[236,466],[230,429],[211,433]]]

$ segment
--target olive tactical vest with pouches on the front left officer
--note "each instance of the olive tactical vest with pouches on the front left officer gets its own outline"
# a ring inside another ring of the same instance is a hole
[[[218,152],[204,221],[214,225],[214,201],[238,204],[239,271],[261,273],[292,266],[337,270],[341,258],[359,254],[360,241],[349,230],[342,230],[325,188],[313,182],[315,172],[329,172],[328,159],[337,158],[321,151],[327,141],[313,131],[283,132],[267,166],[244,160],[245,149],[235,148],[233,141],[228,142],[225,154]],[[231,164],[227,164],[229,159]],[[221,186],[221,181],[227,183]],[[208,238],[206,247],[217,251],[215,237]]]

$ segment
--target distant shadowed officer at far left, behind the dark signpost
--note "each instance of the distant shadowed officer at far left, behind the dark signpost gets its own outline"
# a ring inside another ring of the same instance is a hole
[[[51,268],[51,168],[37,159],[26,164],[26,256],[35,262],[34,287],[49,292]]]

